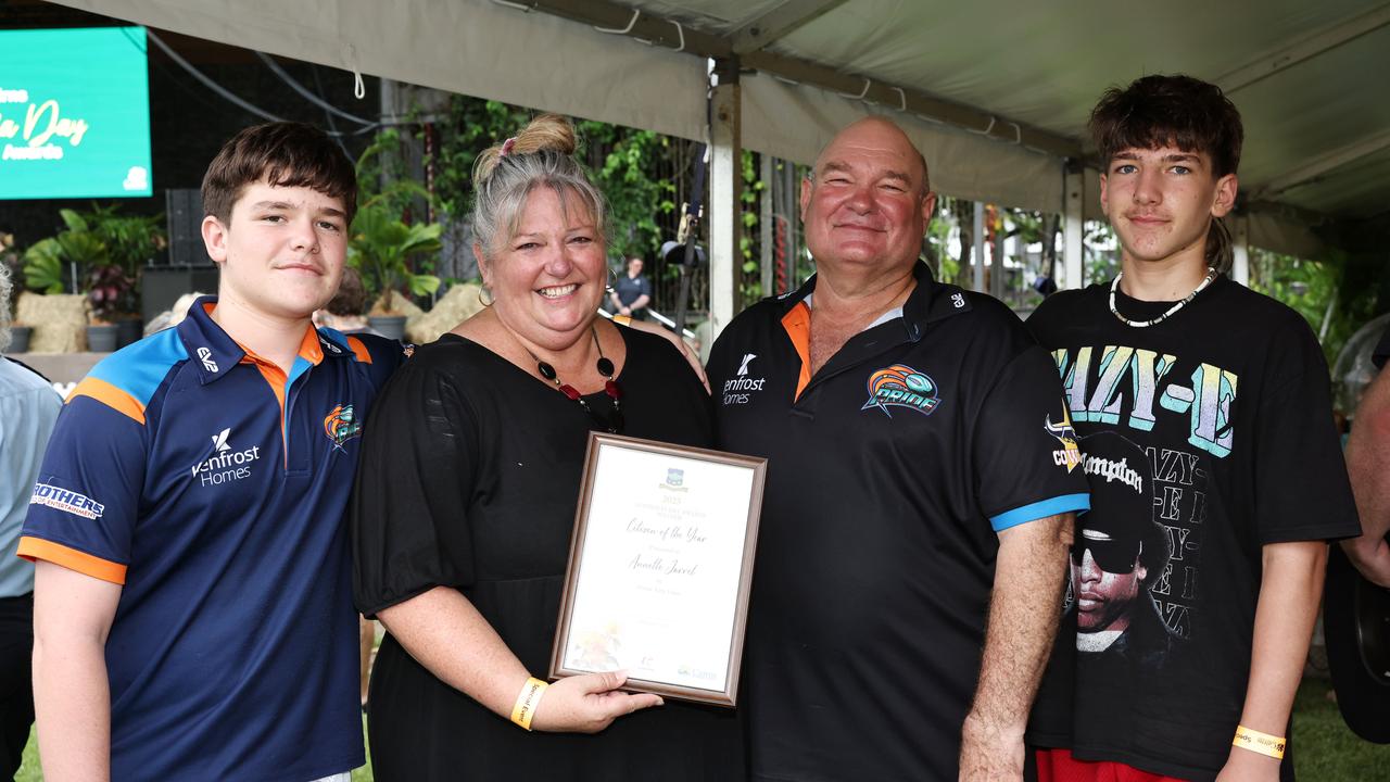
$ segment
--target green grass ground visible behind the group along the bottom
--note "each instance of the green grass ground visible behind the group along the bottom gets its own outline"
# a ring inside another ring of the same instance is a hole
[[[1294,768],[1301,782],[1390,782],[1390,744],[1358,739],[1327,697],[1327,679],[1305,678],[1294,701],[1297,750]],[[42,782],[39,744],[29,736],[17,782]],[[352,772],[353,782],[373,782],[371,760]]]

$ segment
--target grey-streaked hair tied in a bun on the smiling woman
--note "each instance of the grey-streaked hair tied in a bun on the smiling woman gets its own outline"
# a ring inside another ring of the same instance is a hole
[[[599,241],[607,244],[603,193],[574,159],[574,125],[557,114],[531,120],[514,138],[478,156],[473,167],[473,231],[491,257],[516,235],[531,191],[548,186],[569,209],[571,198],[594,217]]]

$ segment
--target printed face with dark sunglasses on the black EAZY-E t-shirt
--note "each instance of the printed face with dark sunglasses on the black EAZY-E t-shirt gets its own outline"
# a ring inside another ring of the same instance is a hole
[[[1148,570],[1138,564],[1138,543],[1083,529],[1072,548],[1076,625],[1083,633],[1123,630]]]

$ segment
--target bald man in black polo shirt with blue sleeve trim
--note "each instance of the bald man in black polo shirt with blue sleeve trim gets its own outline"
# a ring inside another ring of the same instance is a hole
[[[917,262],[935,205],[894,124],[802,184],[817,274],[734,319],[720,442],[769,458],[742,693],[753,778],[1017,779],[1088,506],[1048,355]],[[987,629],[988,628],[988,629]]]

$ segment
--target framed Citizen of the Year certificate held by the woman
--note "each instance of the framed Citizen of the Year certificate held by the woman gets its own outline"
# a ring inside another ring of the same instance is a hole
[[[591,433],[550,678],[733,707],[766,463]]]

